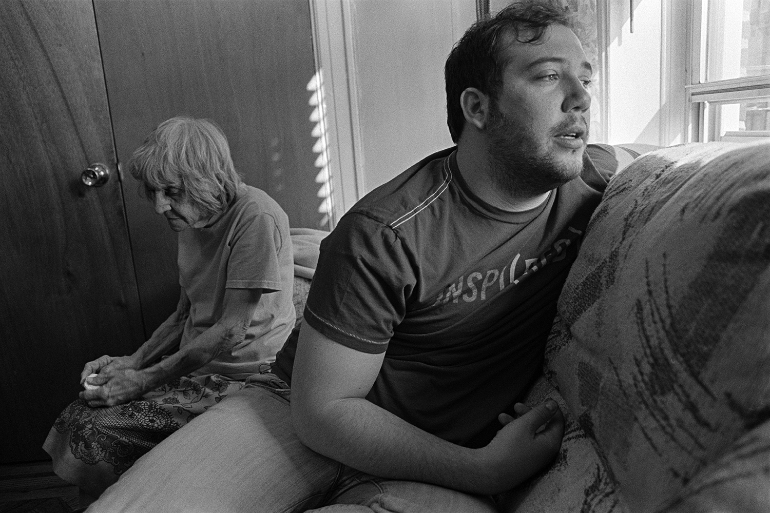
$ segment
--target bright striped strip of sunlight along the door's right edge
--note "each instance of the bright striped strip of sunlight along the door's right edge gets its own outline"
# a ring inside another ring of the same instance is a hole
[[[318,207],[318,213],[323,214],[323,218],[318,222],[318,228],[324,228],[329,225],[333,212],[333,200],[332,181],[329,172],[329,139],[326,136],[326,102],[323,92],[322,70],[319,69],[313,75],[313,78],[307,83],[307,90],[311,92],[308,105],[314,107],[313,112],[310,114],[310,122],[316,124],[313,126],[313,132],[310,132],[310,135],[316,138],[316,143],[313,145],[313,153],[318,154],[315,166],[320,169],[316,175],[316,183],[321,184],[321,188],[318,189],[318,197],[323,198]]]

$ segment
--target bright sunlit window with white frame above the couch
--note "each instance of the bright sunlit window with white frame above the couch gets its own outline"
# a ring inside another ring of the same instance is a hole
[[[770,0],[702,0],[686,86],[693,141],[770,137]]]

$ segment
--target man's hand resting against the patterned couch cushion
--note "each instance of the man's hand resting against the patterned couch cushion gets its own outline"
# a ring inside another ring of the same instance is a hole
[[[484,448],[480,448],[482,467],[487,471],[489,490],[507,491],[550,463],[561,448],[564,415],[553,399],[535,408],[517,403],[517,418],[500,414],[503,428]]]

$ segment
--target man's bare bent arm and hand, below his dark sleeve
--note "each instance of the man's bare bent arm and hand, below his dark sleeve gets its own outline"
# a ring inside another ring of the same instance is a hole
[[[513,488],[556,455],[564,419],[554,401],[508,422],[480,449],[430,435],[374,405],[365,397],[383,357],[347,348],[303,325],[292,372],[291,409],[305,445],[383,478],[485,494]]]

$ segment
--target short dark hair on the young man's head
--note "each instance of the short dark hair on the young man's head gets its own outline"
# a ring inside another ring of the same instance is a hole
[[[494,18],[482,19],[468,28],[452,48],[444,66],[447,125],[455,143],[465,126],[460,108],[462,92],[473,87],[490,95],[493,101],[497,99],[507,65],[502,56],[504,35],[511,31],[518,42],[535,43],[548,25],[555,23],[572,28],[572,16],[559,0],[527,0],[508,5]],[[526,38],[521,38],[522,29],[527,31]]]

